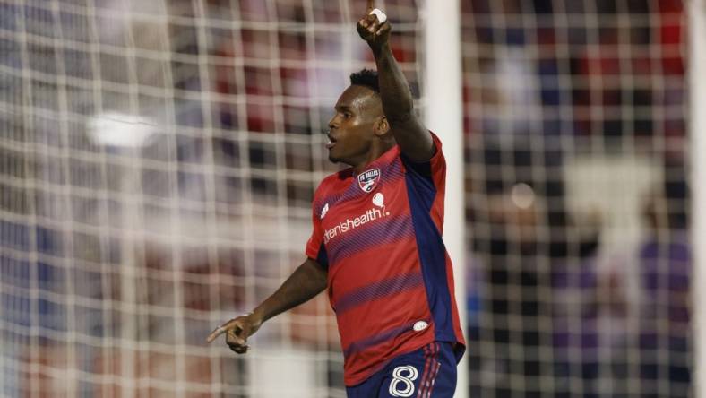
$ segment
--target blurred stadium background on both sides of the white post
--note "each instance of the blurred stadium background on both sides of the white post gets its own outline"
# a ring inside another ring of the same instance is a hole
[[[324,298],[203,339],[302,260],[364,3],[0,0],[0,394],[345,396]],[[461,0],[460,394],[693,394],[687,6]]]

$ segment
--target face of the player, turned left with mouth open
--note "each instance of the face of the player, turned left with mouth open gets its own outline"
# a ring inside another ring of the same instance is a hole
[[[340,95],[329,121],[329,160],[351,166],[365,162],[376,139],[375,122],[383,115],[380,98],[364,86],[350,86]]]

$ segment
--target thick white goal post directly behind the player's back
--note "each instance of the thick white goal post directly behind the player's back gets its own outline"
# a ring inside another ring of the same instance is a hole
[[[423,8],[424,100],[426,126],[439,135],[446,158],[446,203],[443,243],[454,268],[456,303],[461,328],[466,330],[466,240],[463,83],[461,79],[461,3],[426,0]],[[464,332],[465,333],[465,332]],[[469,350],[473,350],[469,347]],[[454,396],[465,398],[468,356],[461,359]]]

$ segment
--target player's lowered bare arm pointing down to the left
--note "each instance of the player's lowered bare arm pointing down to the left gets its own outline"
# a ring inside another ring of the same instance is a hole
[[[263,322],[314,298],[326,289],[326,283],[326,270],[311,258],[307,258],[287,281],[282,283],[280,289],[265,299],[253,312],[221,324],[209,334],[206,342],[212,342],[220,334],[226,333],[226,343],[230,349],[244,354],[249,350],[247,338],[257,332]]]

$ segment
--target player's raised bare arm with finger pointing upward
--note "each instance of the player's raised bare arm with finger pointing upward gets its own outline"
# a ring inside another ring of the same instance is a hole
[[[434,156],[435,146],[431,134],[414,113],[409,84],[392,55],[392,25],[389,21],[380,23],[370,14],[374,9],[375,0],[367,0],[366,16],[357,22],[357,31],[375,56],[383,112],[402,153],[411,160],[429,160]]]

